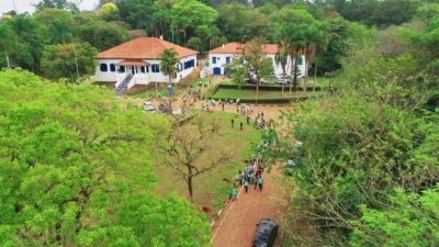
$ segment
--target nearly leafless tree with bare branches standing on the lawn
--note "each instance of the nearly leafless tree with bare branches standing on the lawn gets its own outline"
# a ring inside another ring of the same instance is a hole
[[[200,114],[194,116],[190,124],[181,126],[176,123],[173,130],[167,134],[167,141],[158,144],[164,165],[170,166],[179,179],[185,181],[191,202],[193,202],[193,179],[230,162],[235,156],[234,150],[215,145],[216,136],[221,135],[221,124],[217,119]],[[200,164],[202,156],[210,162]]]

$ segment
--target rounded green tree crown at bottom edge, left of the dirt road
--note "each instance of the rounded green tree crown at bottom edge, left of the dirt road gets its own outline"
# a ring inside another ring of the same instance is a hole
[[[194,204],[170,194],[166,200],[154,195],[135,198],[120,209],[121,224],[138,224],[134,233],[139,246],[210,246],[210,225]]]

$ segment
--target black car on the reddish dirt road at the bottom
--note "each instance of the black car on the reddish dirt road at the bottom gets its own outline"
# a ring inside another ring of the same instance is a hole
[[[278,223],[270,218],[262,218],[257,226],[251,247],[272,247],[278,235]]]

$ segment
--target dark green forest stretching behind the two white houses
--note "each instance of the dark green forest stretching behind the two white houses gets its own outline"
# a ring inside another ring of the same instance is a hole
[[[94,72],[93,56],[136,35],[162,36],[205,54],[227,42],[255,37],[307,49],[318,75],[341,68],[346,40],[367,26],[385,33],[418,16],[434,19],[435,4],[412,0],[198,1],[101,0],[80,12],[66,0],[43,0],[33,14],[3,13],[2,67],[21,67],[49,79],[75,81]],[[71,65],[77,66],[71,66]]]

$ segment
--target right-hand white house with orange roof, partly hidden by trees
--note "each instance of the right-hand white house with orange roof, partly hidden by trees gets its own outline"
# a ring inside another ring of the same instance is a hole
[[[244,45],[238,42],[232,42],[228,44],[224,44],[219,47],[216,47],[209,52],[209,71],[212,75],[225,75],[226,74],[226,65],[232,63],[233,59],[239,58],[243,53]],[[266,44],[262,45],[262,50],[267,57],[272,58],[274,74],[282,74],[282,66],[277,64],[274,60],[275,54],[279,52],[279,47],[275,44]],[[291,63],[290,56],[286,59],[285,72],[289,74],[291,71],[291,67],[294,64]],[[301,63],[299,63],[299,71],[300,75],[305,75],[305,56],[302,55]]]

